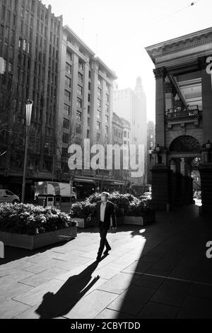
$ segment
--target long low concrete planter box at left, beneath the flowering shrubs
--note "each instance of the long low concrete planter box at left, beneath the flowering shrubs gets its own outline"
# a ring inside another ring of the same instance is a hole
[[[1,234],[2,232],[0,232],[0,240],[4,242],[4,240],[1,239]],[[12,232],[4,232],[4,234],[8,235],[8,243],[4,243],[5,245],[33,250],[40,247],[45,247],[50,244],[63,242],[75,238],[76,227],[69,227],[57,231],[45,232],[43,234],[35,236],[13,234]]]

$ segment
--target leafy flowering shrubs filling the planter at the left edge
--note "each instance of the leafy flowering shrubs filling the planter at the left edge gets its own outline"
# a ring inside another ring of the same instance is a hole
[[[24,235],[38,235],[76,225],[76,221],[61,210],[33,204],[1,203],[0,230]]]

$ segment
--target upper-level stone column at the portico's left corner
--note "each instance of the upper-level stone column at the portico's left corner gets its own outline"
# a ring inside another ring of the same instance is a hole
[[[156,80],[155,90],[155,142],[165,147],[165,67],[153,69]]]

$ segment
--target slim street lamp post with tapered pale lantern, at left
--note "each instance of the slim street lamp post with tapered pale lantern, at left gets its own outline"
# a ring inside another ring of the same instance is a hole
[[[32,114],[32,107],[33,107],[33,101],[30,99],[27,99],[25,101],[25,156],[24,156],[24,166],[23,166],[23,184],[22,184],[22,196],[21,196],[21,202],[24,202],[25,197],[25,174],[27,169],[27,162],[28,162],[28,142],[29,142],[29,134],[30,134],[30,120],[31,120],[31,114]]]

